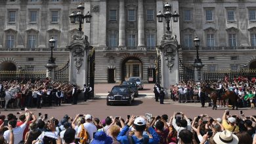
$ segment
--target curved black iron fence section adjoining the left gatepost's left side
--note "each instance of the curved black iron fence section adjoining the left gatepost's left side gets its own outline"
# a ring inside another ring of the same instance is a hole
[[[63,67],[57,68],[54,73],[54,81],[68,82],[70,74],[70,60]]]

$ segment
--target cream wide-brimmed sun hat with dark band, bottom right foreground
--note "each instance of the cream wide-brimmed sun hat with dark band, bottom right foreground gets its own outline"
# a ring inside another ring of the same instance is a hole
[[[238,137],[228,130],[217,132],[217,134],[214,135],[213,140],[218,144],[238,144],[239,141]]]

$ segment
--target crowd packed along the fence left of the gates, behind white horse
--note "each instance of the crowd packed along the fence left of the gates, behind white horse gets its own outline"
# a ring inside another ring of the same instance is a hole
[[[19,87],[20,92],[12,96],[12,107],[37,107],[61,105],[61,103],[77,104],[77,94],[84,93],[84,100],[91,99],[91,87],[79,88],[70,82],[55,82],[46,78],[28,81],[0,81],[0,98],[4,100],[5,91]],[[81,89],[81,90],[80,90]],[[1,105],[2,106],[2,105]]]

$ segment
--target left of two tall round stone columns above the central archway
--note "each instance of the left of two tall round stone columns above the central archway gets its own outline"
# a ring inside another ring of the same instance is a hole
[[[119,1],[119,45],[125,46],[125,0]]]

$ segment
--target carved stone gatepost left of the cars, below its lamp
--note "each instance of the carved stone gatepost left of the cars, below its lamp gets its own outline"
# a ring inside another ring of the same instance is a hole
[[[82,89],[83,84],[89,83],[88,56],[91,46],[87,35],[77,31],[67,48],[70,50],[70,82]]]

